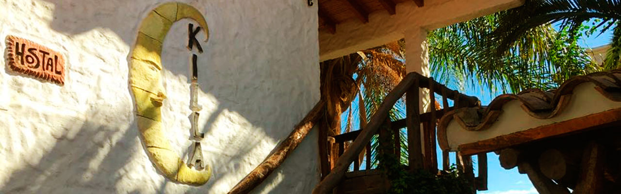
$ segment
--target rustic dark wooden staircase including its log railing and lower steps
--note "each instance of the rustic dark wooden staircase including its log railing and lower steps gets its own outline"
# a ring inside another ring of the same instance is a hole
[[[432,108],[428,113],[420,113],[420,88],[429,91],[430,104],[436,104],[436,94],[442,96],[442,107],[444,109]],[[391,121],[388,117],[389,111],[397,100],[404,95],[406,95],[406,99],[414,99],[406,101],[406,119]],[[448,106],[448,99],[453,100],[454,106]],[[314,188],[313,193],[385,193],[388,191],[390,187],[388,177],[381,170],[371,167],[371,154],[369,153],[389,152],[401,157],[400,137],[395,136],[394,141],[386,141],[386,139],[391,139],[389,137],[390,131],[399,132],[404,128],[407,130],[406,139],[407,145],[409,145],[407,147],[409,166],[404,170],[425,169],[430,172],[437,172],[435,125],[438,119],[452,109],[478,105],[480,105],[480,101],[475,97],[450,90],[434,81],[433,78],[427,78],[419,73],[409,73],[394,90],[388,93],[363,129],[327,137],[328,141],[325,145],[327,149],[320,149],[320,152],[327,152],[320,153],[322,156],[320,161],[322,177],[324,178]],[[371,150],[370,141],[373,136],[378,136],[379,147],[388,147],[388,150]],[[333,147],[338,147],[338,149],[332,149]],[[362,153],[365,153],[366,164],[365,169],[361,170],[360,155]],[[479,160],[482,159],[481,157],[484,159],[485,156],[479,155]],[[472,183],[478,180],[476,185],[479,189],[485,188],[487,185],[486,173],[479,173],[479,177],[474,178],[472,163],[469,158],[458,155],[458,165],[462,165],[461,169],[466,174],[471,175]],[[447,151],[442,152],[442,160],[443,169],[448,169],[450,162]],[[483,162],[479,162],[479,165],[483,165],[481,163]],[[348,172],[351,165],[353,165],[353,170]]]

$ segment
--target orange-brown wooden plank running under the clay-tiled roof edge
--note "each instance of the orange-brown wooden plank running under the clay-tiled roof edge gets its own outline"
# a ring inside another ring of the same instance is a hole
[[[621,108],[611,109],[609,111],[590,114],[580,118],[569,119],[567,121],[556,122],[546,126],[535,127],[525,131],[514,132],[512,134],[498,136],[492,139],[462,144],[459,146],[459,150],[465,155],[492,152],[494,150],[500,150],[505,147],[524,144],[526,142],[561,136],[573,132],[587,131],[596,126],[614,124],[619,121],[621,121]]]

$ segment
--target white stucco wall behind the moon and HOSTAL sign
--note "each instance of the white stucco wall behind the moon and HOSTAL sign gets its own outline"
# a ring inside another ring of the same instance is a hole
[[[138,137],[129,52],[143,17],[166,1],[2,0],[7,35],[65,55],[65,85],[0,65],[0,193],[226,193],[270,154],[319,101],[317,6],[298,0],[181,1],[204,14],[201,141],[214,175],[170,182]],[[186,159],[189,20],[173,24],[162,61],[163,129]],[[202,32],[201,32],[202,33]],[[199,40],[202,36],[197,35]],[[319,180],[314,130],[255,193],[309,193]]]

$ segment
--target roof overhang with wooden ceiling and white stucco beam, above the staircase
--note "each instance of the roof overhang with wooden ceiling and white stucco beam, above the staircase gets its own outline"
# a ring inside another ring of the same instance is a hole
[[[342,57],[399,39],[406,39],[406,47],[417,48],[428,30],[521,6],[524,1],[315,0],[319,60]],[[412,52],[409,56],[418,55],[416,49],[409,52]]]

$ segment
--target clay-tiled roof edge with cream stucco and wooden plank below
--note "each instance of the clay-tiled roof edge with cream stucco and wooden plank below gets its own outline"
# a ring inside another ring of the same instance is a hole
[[[621,126],[621,70],[576,76],[553,91],[497,96],[489,106],[446,113],[438,124],[443,150],[474,155]]]

